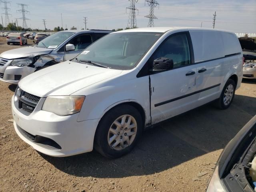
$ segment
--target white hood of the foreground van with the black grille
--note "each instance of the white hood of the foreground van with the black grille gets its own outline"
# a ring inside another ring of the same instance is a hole
[[[26,76],[18,86],[39,97],[70,95],[121,72],[122,70],[66,61]]]

